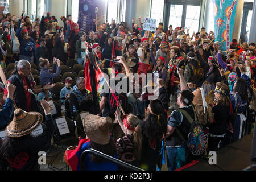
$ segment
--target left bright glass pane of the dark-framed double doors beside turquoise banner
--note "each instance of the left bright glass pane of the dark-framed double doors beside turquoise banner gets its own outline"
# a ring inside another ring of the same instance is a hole
[[[173,28],[181,26],[183,5],[170,5],[169,26]]]

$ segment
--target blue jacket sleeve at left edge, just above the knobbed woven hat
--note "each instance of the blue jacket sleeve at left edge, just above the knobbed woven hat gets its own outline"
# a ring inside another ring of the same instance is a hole
[[[4,129],[10,122],[11,115],[13,114],[13,100],[7,98],[3,110],[0,112],[0,130]]]

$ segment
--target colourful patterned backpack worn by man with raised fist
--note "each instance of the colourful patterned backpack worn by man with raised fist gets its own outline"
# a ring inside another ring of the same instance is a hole
[[[187,141],[180,133],[179,129],[176,128],[177,134],[183,140],[183,142],[187,143],[188,149],[192,152],[193,155],[200,155],[205,152],[205,145],[207,142],[207,135],[204,133],[204,127],[197,121],[196,112],[193,107],[195,119],[192,119],[191,116],[187,113],[187,111],[183,109],[177,109],[180,111],[185,118],[188,119],[189,123],[191,123],[191,127],[188,131],[188,139]]]

